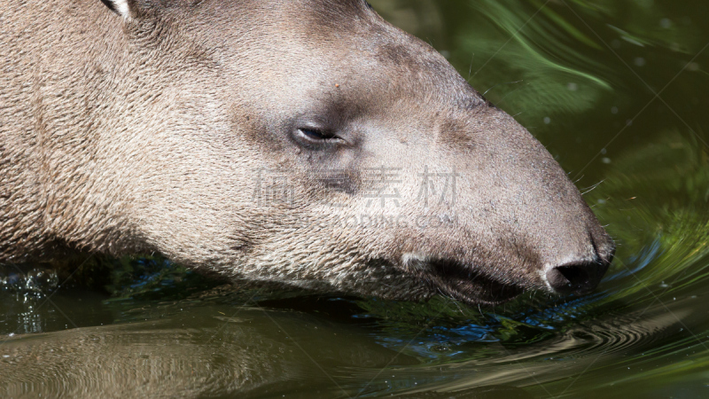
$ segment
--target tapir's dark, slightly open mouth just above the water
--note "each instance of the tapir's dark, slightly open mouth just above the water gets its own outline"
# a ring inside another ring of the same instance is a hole
[[[468,304],[497,305],[510,301],[524,291],[511,282],[486,276],[475,268],[455,261],[432,261],[425,277],[456,301]]]

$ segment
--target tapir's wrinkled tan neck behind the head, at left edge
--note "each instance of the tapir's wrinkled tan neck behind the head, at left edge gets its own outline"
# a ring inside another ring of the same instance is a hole
[[[111,97],[127,78],[114,73],[129,57],[113,50],[128,48],[121,20],[97,1],[51,0],[41,5],[47,22],[28,17],[39,7],[32,3],[2,6],[0,41],[25,55],[0,57],[0,262],[58,242],[93,249],[96,228],[87,226],[110,218],[94,184],[105,158],[95,137],[113,129]]]

